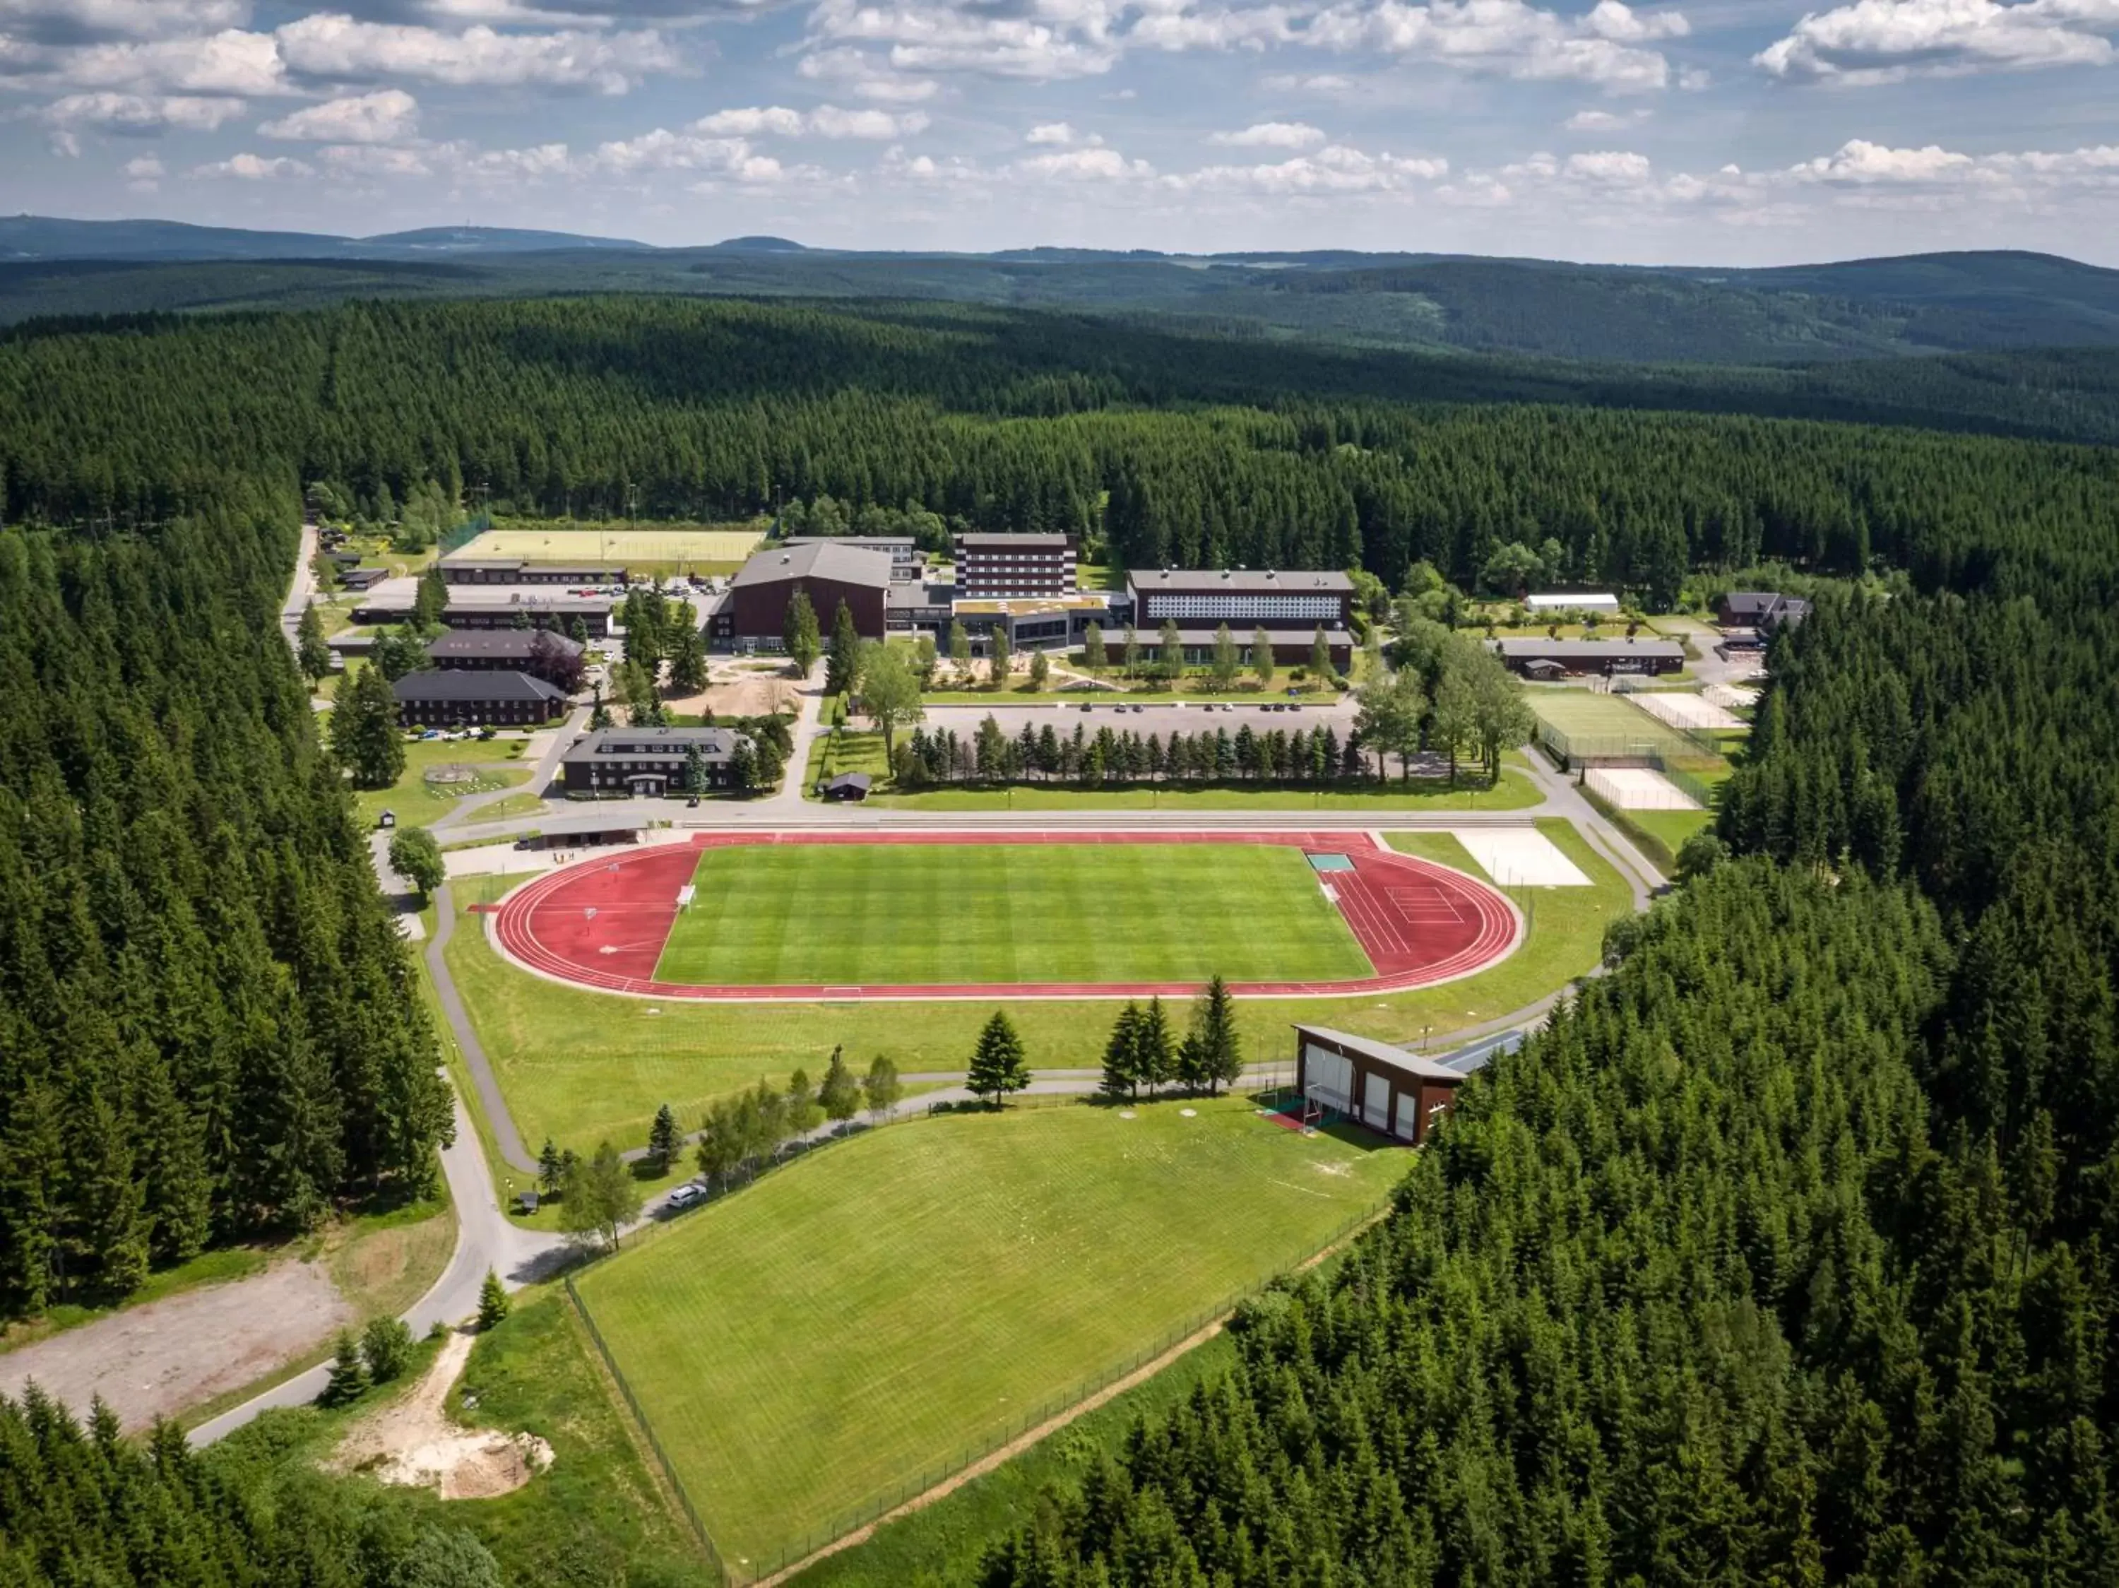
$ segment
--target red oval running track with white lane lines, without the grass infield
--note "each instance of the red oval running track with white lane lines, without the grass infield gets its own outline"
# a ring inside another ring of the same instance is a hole
[[[1320,871],[1375,975],[1343,982],[1235,982],[1231,992],[1269,999],[1360,996],[1452,982],[1515,950],[1521,916],[1492,886],[1445,865],[1399,854],[1367,833],[693,833],[593,857],[526,882],[494,910],[504,956],[555,982],[653,999],[727,1003],[856,999],[1180,999],[1195,982],[943,982],[877,986],[697,986],[657,982],[678,888],[701,848],[737,844],[1284,844],[1305,854],[1346,854],[1352,871]]]

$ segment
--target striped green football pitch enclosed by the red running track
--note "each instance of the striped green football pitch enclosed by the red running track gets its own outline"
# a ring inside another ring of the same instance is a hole
[[[701,850],[655,977],[701,986],[1231,982],[1371,973],[1280,844]]]

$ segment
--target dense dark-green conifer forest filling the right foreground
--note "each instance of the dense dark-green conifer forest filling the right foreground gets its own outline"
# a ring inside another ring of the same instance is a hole
[[[981,1588],[2119,1580],[2119,515],[1901,553],[1776,642],[1735,857]]]

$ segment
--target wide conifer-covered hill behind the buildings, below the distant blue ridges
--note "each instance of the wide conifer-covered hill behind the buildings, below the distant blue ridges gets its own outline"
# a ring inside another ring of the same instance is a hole
[[[1596,407],[1405,403],[1424,371],[985,310],[667,299],[350,305],[0,343],[11,517],[159,519],[201,473],[356,500],[744,517],[776,496],[1106,532],[1134,564],[1471,581],[1507,541],[1670,594],[2111,513],[2108,449]],[[1462,392],[1454,392],[1462,396]],[[1500,392],[1507,394],[1507,386]]]

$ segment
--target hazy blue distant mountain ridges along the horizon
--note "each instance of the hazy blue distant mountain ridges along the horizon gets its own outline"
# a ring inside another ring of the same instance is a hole
[[[337,237],[176,220],[0,218],[0,324],[549,293],[943,299],[1216,335],[1636,365],[2119,348],[2119,271],[2022,250],[1778,267],[1577,265],[1343,248],[949,254],[807,248],[769,235],[657,248],[509,227]]]

